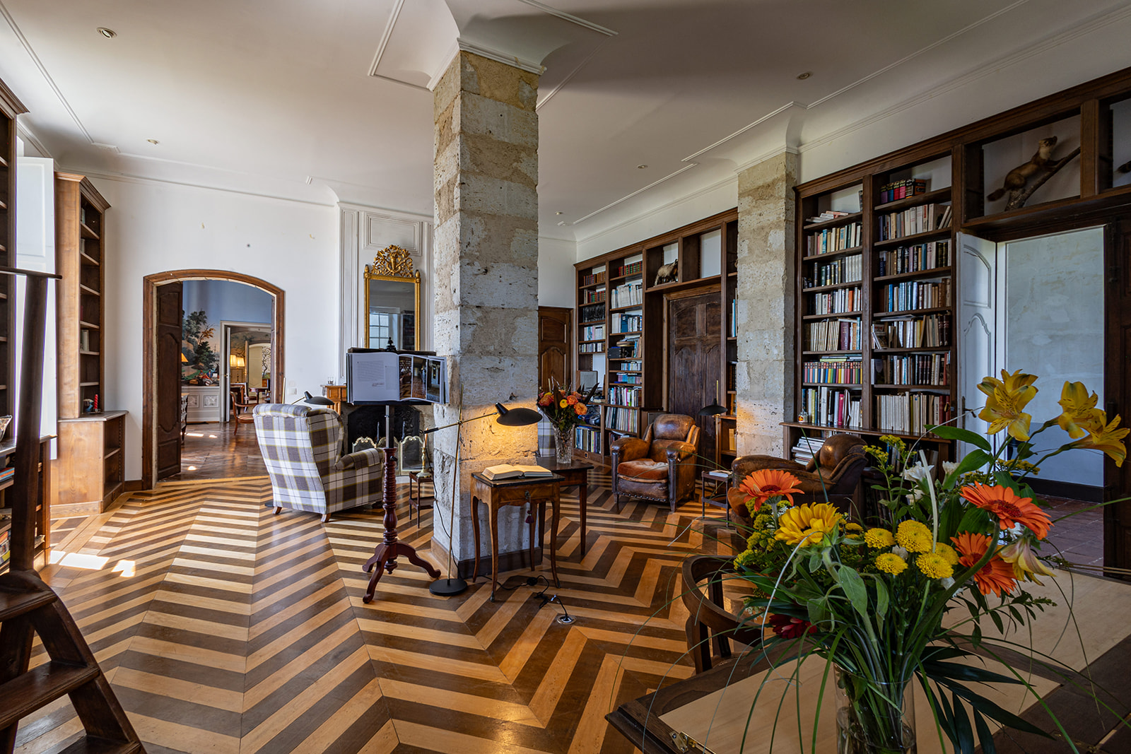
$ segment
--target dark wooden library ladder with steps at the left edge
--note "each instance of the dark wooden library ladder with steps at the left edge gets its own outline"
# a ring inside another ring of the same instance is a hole
[[[23,358],[11,486],[11,561],[0,574],[0,752],[11,754],[20,719],[63,694],[70,696],[86,736],[63,754],[144,752],[110,682],[59,596],[35,572],[35,501],[43,388],[48,279],[58,275],[0,267],[27,278]],[[46,469],[44,469],[46,473]],[[44,505],[50,501],[43,501]],[[50,661],[28,669],[38,634]]]

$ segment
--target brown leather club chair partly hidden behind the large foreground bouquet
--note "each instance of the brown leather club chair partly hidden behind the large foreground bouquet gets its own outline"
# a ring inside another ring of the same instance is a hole
[[[794,504],[822,503],[827,499],[840,510],[847,511],[865,466],[867,454],[864,452],[864,441],[854,434],[835,434],[824,440],[808,466],[776,456],[740,456],[731,463],[731,471],[734,474],[735,487],[742,484],[746,475],[758,469],[788,471],[797,477],[796,486],[802,492],[793,495]],[[731,492],[737,491],[732,488]],[[740,506],[733,502],[729,493],[727,497],[732,500],[731,506],[745,518],[745,506],[739,510]]]

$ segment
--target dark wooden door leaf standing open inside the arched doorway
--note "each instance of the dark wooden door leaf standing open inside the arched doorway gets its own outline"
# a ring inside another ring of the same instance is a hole
[[[157,286],[157,479],[181,473],[181,284]]]

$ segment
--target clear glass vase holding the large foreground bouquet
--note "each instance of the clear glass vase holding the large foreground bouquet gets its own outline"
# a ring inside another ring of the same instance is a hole
[[[915,754],[915,704],[910,679],[870,681],[839,666],[837,754]]]

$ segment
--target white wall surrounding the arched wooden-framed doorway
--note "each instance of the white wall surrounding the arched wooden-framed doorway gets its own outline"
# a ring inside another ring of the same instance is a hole
[[[285,292],[287,396],[337,372],[338,211],[334,206],[92,176],[106,213],[107,408],[126,421],[126,478],[141,476],[143,278],[205,268]],[[294,391],[294,392],[292,392]]]

